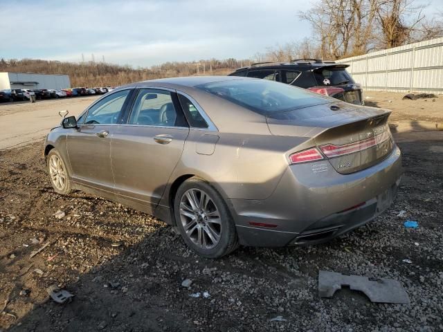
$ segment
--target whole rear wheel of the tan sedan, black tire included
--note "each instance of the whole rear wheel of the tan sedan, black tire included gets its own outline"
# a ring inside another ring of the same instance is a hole
[[[174,216],[183,240],[203,257],[223,257],[239,246],[224,199],[201,178],[192,177],[180,185],[174,198]]]

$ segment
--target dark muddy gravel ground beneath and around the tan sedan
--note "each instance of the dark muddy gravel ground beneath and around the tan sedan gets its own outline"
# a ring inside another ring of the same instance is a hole
[[[443,141],[400,147],[406,173],[377,221],[320,246],[239,248],[219,260],[147,214],[55,194],[42,142],[0,151],[0,331],[443,331]],[[397,279],[410,305],[346,289],[320,299],[319,270]],[[51,284],[72,302],[48,299]]]

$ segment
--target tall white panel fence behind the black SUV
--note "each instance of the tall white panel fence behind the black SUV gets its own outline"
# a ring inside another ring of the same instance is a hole
[[[443,38],[337,60],[365,90],[443,93]]]

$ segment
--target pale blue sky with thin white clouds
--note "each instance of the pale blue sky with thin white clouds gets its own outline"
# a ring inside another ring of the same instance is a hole
[[[443,10],[443,0],[426,12]],[[0,0],[0,57],[152,66],[250,58],[311,36],[299,10],[311,0]]]

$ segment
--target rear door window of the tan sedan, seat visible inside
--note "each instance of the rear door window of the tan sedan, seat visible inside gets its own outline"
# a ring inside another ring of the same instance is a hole
[[[155,127],[187,127],[183,113],[179,113],[174,107],[172,93],[161,89],[138,91],[128,123]]]

